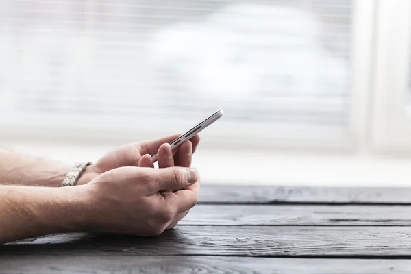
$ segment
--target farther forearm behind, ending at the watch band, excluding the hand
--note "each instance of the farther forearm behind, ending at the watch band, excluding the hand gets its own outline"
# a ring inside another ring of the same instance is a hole
[[[70,166],[38,160],[0,149],[0,184],[23,186],[62,186]]]

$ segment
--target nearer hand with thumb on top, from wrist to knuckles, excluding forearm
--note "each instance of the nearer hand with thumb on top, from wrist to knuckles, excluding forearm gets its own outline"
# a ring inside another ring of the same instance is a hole
[[[82,186],[88,189],[91,214],[86,229],[157,236],[181,220],[199,197],[195,169],[121,167]],[[160,193],[171,189],[174,192]]]

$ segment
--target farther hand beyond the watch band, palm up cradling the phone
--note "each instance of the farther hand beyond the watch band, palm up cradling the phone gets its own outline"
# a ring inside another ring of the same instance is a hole
[[[147,142],[136,142],[128,145],[124,145],[115,151],[109,152],[101,159],[99,159],[95,164],[92,164],[86,168],[86,171],[80,177],[77,185],[86,184],[91,182],[92,179],[122,166],[140,166],[140,167],[151,167],[153,162],[151,160],[151,155],[158,152],[158,163],[159,167],[169,167],[169,166],[186,166],[190,167],[191,155],[197,149],[199,145],[200,137],[198,135],[193,136],[190,141],[184,142],[179,148],[173,151],[173,165],[171,165],[171,159],[166,157],[164,154],[166,147],[170,146],[169,142],[173,142],[179,134],[166,136],[158,140],[151,140]],[[164,145],[163,145],[164,144]],[[191,149],[191,155],[188,155],[188,147]],[[142,158],[142,156],[145,156]]]

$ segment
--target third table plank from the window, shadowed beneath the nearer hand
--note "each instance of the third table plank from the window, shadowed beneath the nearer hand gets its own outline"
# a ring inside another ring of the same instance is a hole
[[[406,256],[410,227],[188,226],[155,238],[58,234],[0,247],[4,254],[116,251],[135,255]]]

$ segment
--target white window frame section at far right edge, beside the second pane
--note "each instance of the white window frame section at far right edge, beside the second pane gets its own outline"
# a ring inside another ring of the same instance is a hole
[[[377,8],[371,145],[379,152],[411,151],[411,1],[382,0]]]

